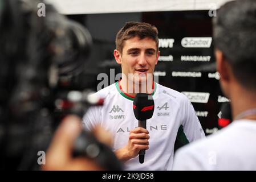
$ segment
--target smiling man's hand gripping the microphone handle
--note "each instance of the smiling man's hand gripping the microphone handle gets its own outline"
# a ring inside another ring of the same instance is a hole
[[[128,144],[123,148],[115,151],[117,158],[122,161],[135,158],[140,150],[148,150],[149,148],[149,132],[143,127],[136,127],[136,129],[130,131]]]

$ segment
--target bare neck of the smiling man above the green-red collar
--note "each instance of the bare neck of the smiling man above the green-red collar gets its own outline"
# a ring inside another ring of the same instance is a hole
[[[153,93],[153,81],[145,82],[145,84],[136,84],[134,81],[121,80],[120,85],[122,90],[132,97],[135,97],[137,93]]]

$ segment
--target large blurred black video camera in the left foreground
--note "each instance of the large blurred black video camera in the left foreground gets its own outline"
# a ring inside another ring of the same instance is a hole
[[[45,16],[38,15],[39,4]],[[61,119],[103,104],[75,82],[91,45],[86,28],[43,1],[0,0],[0,169],[40,169],[38,151],[46,151]],[[96,143],[101,156],[95,160],[121,169],[93,135],[83,131],[78,140],[83,145],[74,154],[88,157],[84,147]]]

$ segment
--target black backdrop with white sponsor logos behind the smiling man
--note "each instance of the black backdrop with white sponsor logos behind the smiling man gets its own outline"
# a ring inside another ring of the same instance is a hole
[[[218,113],[223,96],[213,53],[212,17],[208,11],[161,11],[68,15],[91,32],[94,46],[84,68],[83,82],[96,90],[105,73],[115,82],[120,66],[113,58],[115,35],[125,22],[143,21],[159,29],[160,59],[155,69],[159,83],[185,94],[192,102],[206,135],[218,130]],[[111,71],[112,70],[112,71]],[[113,71],[115,73],[113,73]]]

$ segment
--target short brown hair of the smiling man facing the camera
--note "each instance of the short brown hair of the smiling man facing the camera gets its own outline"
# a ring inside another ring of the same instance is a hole
[[[155,26],[144,22],[127,22],[116,35],[116,49],[122,53],[125,40],[138,36],[140,39],[152,38],[159,50],[158,30]]]

